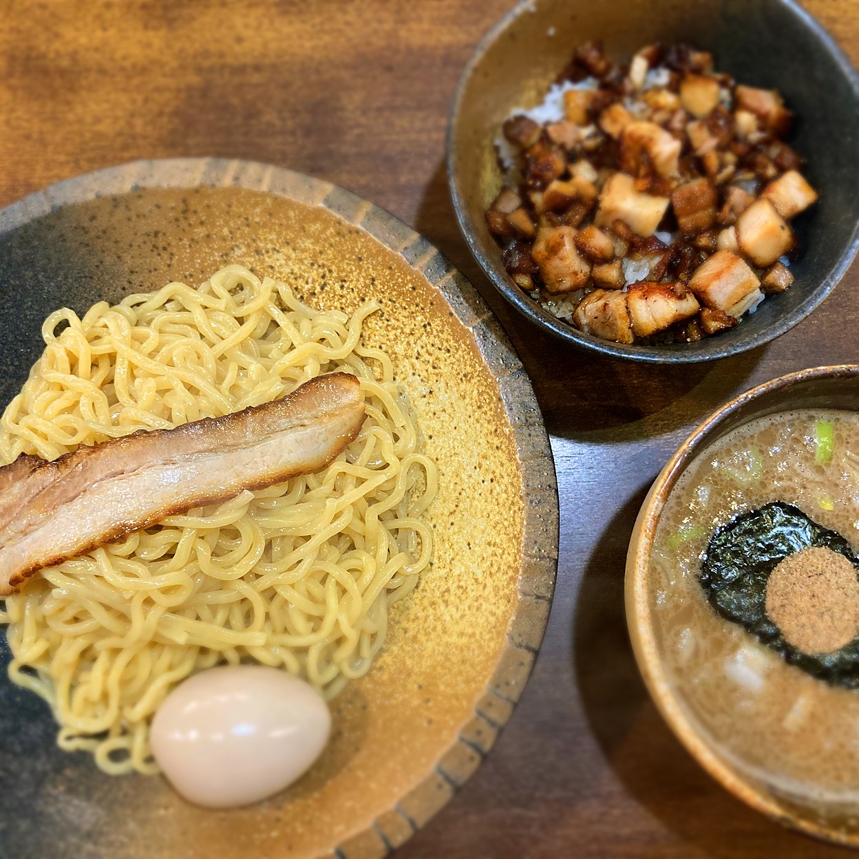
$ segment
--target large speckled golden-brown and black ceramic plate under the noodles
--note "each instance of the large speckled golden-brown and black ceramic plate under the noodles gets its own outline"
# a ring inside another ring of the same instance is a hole
[[[15,859],[369,859],[454,795],[509,719],[545,631],[557,566],[550,448],[521,363],[427,241],[340,188],[242,161],[138,161],[0,211],[0,401],[41,351],[46,314],[118,302],[227,263],[321,308],[375,296],[439,466],[430,572],[385,649],[332,704],[332,742],[292,788],[206,811],[161,777],[109,777],[55,745],[46,705],[0,680],[0,855]],[[0,656],[9,660],[5,637]]]

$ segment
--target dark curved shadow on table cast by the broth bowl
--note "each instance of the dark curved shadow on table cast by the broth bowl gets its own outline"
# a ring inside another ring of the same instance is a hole
[[[594,738],[630,795],[708,856],[731,859],[752,844],[783,859],[844,855],[735,800],[691,758],[650,701],[626,632],[622,573],[647,488],[624,504],[595,545],[572,618],[573,670]]]

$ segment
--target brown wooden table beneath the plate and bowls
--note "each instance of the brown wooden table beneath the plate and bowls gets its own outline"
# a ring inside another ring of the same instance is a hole
[[[859,357],[859,269],[794,331],[715,364],[608,362],[527,325],[469,256],[443,163],[460,70],[509,5],[9,0],[0,10],[0,205],[140,157],[267,161],[393,211],[435,241],[502,320],[557,463],[555,601],[509,727],[399,856],[835,856],[735,801],[674,740],[639,679],[622,593],[638,506],[694,424],[755,383]],[[807,7],[859,62],[859,3]]]

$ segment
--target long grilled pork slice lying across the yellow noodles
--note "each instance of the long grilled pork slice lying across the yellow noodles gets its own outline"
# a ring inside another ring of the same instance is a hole
[[[0,469],[0,595],[165,516],[317,471],[363,419],[360,382],[333,373],[224,417],[142,430],[53,462],[21,457]]]

